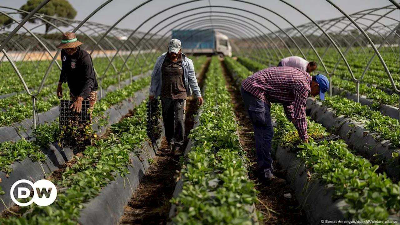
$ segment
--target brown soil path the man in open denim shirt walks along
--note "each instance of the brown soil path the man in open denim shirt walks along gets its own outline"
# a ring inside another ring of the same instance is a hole
[[[206,62],[198,77],[200,88],[203,86],[204,74],[208,70],[210,60]],[[182,152],[188,143],[188,134],[194,125],[194,116],[198,110],[196,98],[188,98],[186,102],[185,142]],[[161,149],[167,147],[164,138]],[[180,171],[179,158],[166,151],[159,151],[154,162],[144,174],[140,185],[132,199],[125,207],[120,225],[164,225],[168,222],[171,204],[169,200],[175,189],[177,171]]]

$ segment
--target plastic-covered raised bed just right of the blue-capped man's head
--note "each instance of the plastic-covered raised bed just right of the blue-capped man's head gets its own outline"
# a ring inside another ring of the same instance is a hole
[[[366,105],[340,96],[324,102],[307,100],[316,122],[340,135],[360,155],[381,165],[389,177],[400,179],[400,123]]]

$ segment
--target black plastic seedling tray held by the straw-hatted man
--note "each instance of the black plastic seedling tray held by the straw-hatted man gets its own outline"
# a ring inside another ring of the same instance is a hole
[[[70,108],[72,103],[73,101],[71,100],[61,100],[60,102],[60,130],[70,125],[71,121],[77,121],[80,125],[83,125],[85,123],[90,125],[90,114],[88,114],[90,101],[82,101],[82,111],[80,113],[72,111],[72,109]],[[90,139],[86,139],[83,142],[76,143],[76,140],[73,137],[70,137],[71,135],[68,131],[64,131],[63,136],[64,138],[61,140],[62,147],[84,147],[92,145],[92,141]]]

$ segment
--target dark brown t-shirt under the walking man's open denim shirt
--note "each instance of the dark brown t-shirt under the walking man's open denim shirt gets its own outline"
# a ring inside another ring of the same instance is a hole
[[[186,88],[183,78],[182,54],[176,62],[172,62],[167,54],[161,67],[161,74],[161,96],[171,99],[185,99]]]

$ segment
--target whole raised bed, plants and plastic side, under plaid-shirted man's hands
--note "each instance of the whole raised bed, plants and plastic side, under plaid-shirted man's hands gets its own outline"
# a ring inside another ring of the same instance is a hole
[[[312,141],[328,135],[313,121],[308,122],[310,143],[302,144],[282,106],[272,104],[271,115],[276,120],[273,153],[310,224],[400,221],[400,187],[376,173],[378,165],[353,155],[343,140]]]

